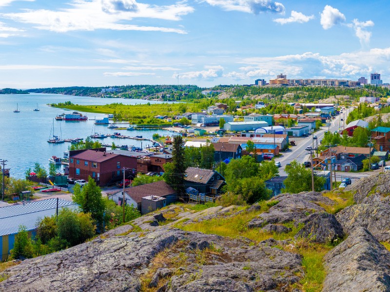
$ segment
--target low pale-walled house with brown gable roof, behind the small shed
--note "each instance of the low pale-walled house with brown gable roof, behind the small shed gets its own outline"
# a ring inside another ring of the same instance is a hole
[[[177,192],[164,181],[141,184],[141,185],[125,188],[125,203],[130,206],[133,205],[133,207],[137,208],[141,212],[141,214],[145,214],[142,213],[142,199],[148,198],[150,196],[164,198],[165,200],[157,199],[156,201],[161,201],[162,204],[165,205],[169,205],[170,203],[173,203],[177,200]],[[123,201],[123,190],[117,190],[112,193],[107,193],[107,197],[109,200],[113,200],[118,205],[121,205]],[[148,198],[146,200],[152,200],[152,199]],[[157,208],[160,207],[159,204],[154,204],[154,206],[156,206]],[[148,209],[147,211],[151,212],[155,210],[156,209]]]

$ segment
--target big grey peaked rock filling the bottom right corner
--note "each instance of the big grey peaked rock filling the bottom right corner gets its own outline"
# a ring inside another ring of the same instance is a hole
[[[390,291],[390,253],[364,228],[325,256],[323,292]]]

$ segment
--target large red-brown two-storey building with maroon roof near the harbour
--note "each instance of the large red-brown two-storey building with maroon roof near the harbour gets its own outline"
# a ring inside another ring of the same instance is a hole
[[[121,180],[123,171],[127,179],[134,178],[137,158],[106,152],[105,148],[69,151],[69,177],[75,180],[92,177],[97,185],[107,185]]]

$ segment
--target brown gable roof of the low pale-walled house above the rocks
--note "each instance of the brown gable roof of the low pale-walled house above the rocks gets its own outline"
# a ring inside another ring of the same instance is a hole
[[[122,190],[115,191],[112,194],[122,192]],[[146,183],[132,187],[126,187],[125,193],[129,195],[134,201],[140,203],[142,198],[148,197],[150,195],[164,197],[168,195],[176,194],[176,191],[164,181],[158,181],[154,183]],[[109,194],[107,194],[109,195]]]

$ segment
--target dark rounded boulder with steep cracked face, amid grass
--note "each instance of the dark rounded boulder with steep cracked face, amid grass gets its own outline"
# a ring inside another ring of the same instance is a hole
[[[326,212],[314,213],[300,223],[303,223],[304,226],[298,231],[295,238],[309,237],[313,242],[327,243],[344,237],[341,224],[334,215]]]

